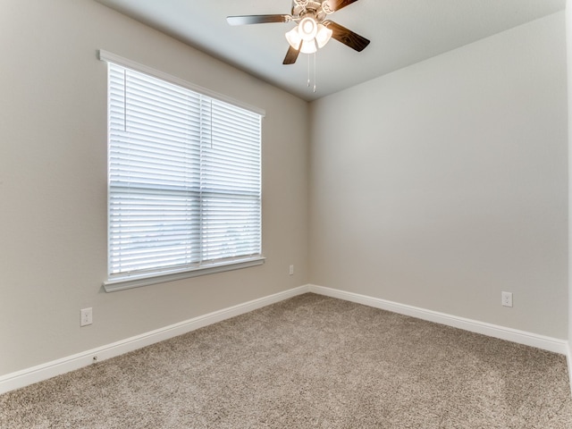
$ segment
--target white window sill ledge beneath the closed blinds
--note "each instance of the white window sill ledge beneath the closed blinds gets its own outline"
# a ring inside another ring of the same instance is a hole
[[[126,290],[148,286],[150,284],[173,282],[175,280],[186,279],[189,277],[198,277],[199,275],[223,273],[225,271],[240,270],[250,266],[263,265],[265,257],[251,257],[248,259],[240,259],[232,262],[220,264],[204,265],[198,268],[187,268],[184,270],[170,271],[164,273],[131,275],[110,279],[103,283],[105,292],[116,292],[118,290]]]

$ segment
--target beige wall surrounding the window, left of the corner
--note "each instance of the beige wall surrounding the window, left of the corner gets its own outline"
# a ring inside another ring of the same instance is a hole
[[[265,265],[102,290],[100,48],[265,109]],[[0,375],[307,283],[306,102],[91,0],[0,0],[0,52]]]

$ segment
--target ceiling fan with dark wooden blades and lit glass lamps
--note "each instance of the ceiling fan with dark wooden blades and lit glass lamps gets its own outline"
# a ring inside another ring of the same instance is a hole
[[[326,19],[328,15],[355,3],[357,0],[292,0],[292,12],[275,15],[228,16],[231,25],[295,22],[297,26],[286,33],[290,45],[283,64],[296,63],[299,53],[313,54],[334,38],[346,46],[363,51],[369,40],[350,29]]]

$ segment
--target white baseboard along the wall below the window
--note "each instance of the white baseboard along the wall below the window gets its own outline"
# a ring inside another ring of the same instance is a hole
[[[254,299],[237,306],[223,308],[222,310],[215,311],[207,315],[199,315],[198,317],[183,321],[179,324],[172,324],[155,331],[146,332],[122,341],[107,344],[103,347],[86,350],[72,356],[47,362],[46,364],[33,366],[15,373],[0,376],[0,394],[28,386],[29,384],[47,380],[48,378],[55,377],[56,375],[68,373],[83,366],[88,366],[96,361],[99,362],[110,357],[116,357],[159,341],[168,340],[183,333],[195,331],[196,329],[209,324],[215,324],[234,317],[235,315],[242,315],[256,310],[257,308],[266,307],[284,299],[290,299],[297,295],[307,293],[308,291],[308,286],[300,286],[299,288],[285,290],[264,298]]]

